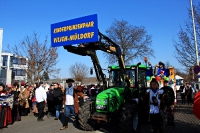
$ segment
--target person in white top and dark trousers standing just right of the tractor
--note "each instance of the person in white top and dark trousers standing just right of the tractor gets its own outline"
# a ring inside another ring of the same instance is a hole
[[[159,84],[155,78],[152,78],[150,82],[150,89],[147,89],[147,94],[150,100],[150,121],[152,123],[152,129],[154,133],[163,133],[163,125],[161,122],[159,107],[160,99],[159,95],[163,94],[163,90],[159,89]]]

